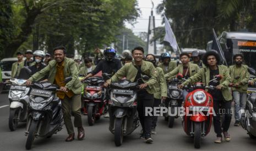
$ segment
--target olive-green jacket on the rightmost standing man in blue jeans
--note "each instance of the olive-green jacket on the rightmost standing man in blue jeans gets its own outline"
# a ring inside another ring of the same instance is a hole
[[[238,88],[232,88],[232,91],[238,91],[238,92],[247,92],[248,88],[248,80],[249,80],[249,72],[248,72],[248,66],[247,65],[241,65],[241,67],[237,68],[236,65],[230,66],[228,68],[228,71],[230,73],[231,77],[231,83],[236,84],[240,82]],[[239,77],[239,79],[235,79],[236,77]]]

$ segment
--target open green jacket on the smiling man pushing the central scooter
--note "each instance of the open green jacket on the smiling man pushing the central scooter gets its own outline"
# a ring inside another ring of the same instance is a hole
[[[134,82],[134,79],[138,73],[138,69],[133,65],[134,62],[126,63],[121,69],[119,69],[108,81],[117,82],[118,80],[126,77],[126,79]],[[149,94],[154,94],[156,92],[155,83],[157,82],[157,71],[154,65],[149,61],[142,61],[141,71],[148,75],[150,79],[148,81],[143,80],[144,83],[148,84],[145,88]]]

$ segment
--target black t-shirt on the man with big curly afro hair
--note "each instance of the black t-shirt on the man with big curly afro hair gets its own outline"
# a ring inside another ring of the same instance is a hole
[[[216,75],[219,74],[219,68],[215,69],[215,70],[211,70],[210,69],[210,80],[214,79]],[[220,82],[218,80],[213,80],[209,83],[209,85],[213,85],[213,86],[217,86],[219,85]],[[214,100],[222,100],[222,93],[221,90],[210,90],[209,93],[211,94],[211,96],[213,96]]]

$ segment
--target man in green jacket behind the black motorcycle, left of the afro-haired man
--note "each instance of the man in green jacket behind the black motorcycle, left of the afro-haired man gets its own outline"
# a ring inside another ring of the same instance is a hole
[[[195,73],[199,71],[198,65],[195,65],[193,63],[189,63],[189,54],[188,53],[182,53],[179,55],[179,59],[181,60],[182,64],[178,65],[175,69],[173,69],[171,72],[168,72],[165,74],[165,78],[170,80],[172,78],[175,78],[178,73],[183,74],[183,77],[185,79],[188,79]],[[188,95],[188,91],[183,90],[183,100],[185,100],[186,96]]]

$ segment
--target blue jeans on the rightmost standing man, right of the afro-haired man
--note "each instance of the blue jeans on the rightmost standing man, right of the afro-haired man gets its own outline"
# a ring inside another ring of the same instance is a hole
[[[235,102],[235,119],[240,120],[239,110],[246,107],[246,96],[247,93],[242,93],[238,91],[233,91],[233,100]]]

